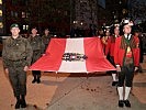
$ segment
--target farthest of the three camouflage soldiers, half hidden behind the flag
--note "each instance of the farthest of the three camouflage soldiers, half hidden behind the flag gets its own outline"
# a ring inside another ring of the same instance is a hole
[[[44,35],[42,36],[43,43],[45,44],[45,51],[50,42],[52,35],[49,34],[49,30],[45,29]]]

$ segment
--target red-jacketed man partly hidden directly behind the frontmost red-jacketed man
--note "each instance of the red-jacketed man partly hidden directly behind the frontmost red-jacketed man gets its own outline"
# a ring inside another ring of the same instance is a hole
[[[115,66],[114,64],[114,44],[115,44],[115,38],[120,36],[120,28],[119,25],[114,26],[113,30],[113,35],[109,37],[108,40],[108,44],[105,47],[105,55],[108,56],[108,54],[110,55],[110,63]],[[113,82],[112,86],[116,86],[117,85],[117,78],[116,78],[116,70],[112,70],[112,78],[113,78]]]

